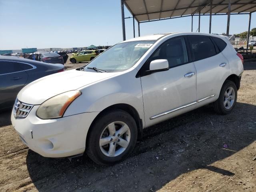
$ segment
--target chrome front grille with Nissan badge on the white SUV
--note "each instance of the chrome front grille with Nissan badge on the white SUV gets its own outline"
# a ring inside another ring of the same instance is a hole
[[[15,100],[13,113],[15,118],[26,118],[28,116],[28,113],[33,108],[34,105],[22,103],[18,100],[18,98]]]

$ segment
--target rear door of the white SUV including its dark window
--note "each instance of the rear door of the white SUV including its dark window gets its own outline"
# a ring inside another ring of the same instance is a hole
[[[197,105],[202,106],[218,98],[229,75],[229,63],[210,36],[194,35],[188,39],[197,71]]]

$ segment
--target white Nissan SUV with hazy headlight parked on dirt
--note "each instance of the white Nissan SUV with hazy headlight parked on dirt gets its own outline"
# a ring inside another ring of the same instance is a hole
[[[86,152],[111,165],[144,128],[212,103],[236,104],[243,58],[224,36],[155,34],[120,42],[88,65],[40,78],[18,94],[11,116],[21,140],[45,157]]]

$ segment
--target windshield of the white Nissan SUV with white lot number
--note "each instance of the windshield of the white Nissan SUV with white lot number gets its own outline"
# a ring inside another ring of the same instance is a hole
[[[134,66],[156,41],[132,41],[116,44],[104,51],[87,66],[84,71],[96,72],[97,68],[106,72],[120,72]]]

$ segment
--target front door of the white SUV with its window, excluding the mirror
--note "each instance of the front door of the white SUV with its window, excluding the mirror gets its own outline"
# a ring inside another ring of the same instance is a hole
[[[188,58],[185,39],[171,38],[160,45],[152,60],[167,59],[170,69],[141,76],[146,126],[151,126],[196,107],[196,68]]]

